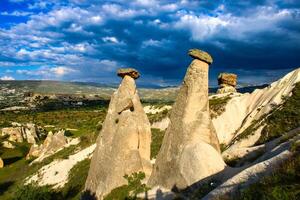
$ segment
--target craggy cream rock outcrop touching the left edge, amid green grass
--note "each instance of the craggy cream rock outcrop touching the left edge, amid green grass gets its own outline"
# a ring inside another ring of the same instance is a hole
[[[11,142],[28,142],[35,144],[40,138],[39,128],[32,123],[19,124],[12,123],[12,127],[2,128],[1,135],[8,136],[8,141]]]

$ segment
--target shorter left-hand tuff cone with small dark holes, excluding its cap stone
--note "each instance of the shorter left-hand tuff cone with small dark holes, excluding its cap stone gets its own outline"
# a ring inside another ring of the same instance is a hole
[[[93,154],[85,190],[103,199],[127,183],[124,175],[151,173],[151,130],[137,94],[135,81],[125,75],[112,95],[97,148]]]

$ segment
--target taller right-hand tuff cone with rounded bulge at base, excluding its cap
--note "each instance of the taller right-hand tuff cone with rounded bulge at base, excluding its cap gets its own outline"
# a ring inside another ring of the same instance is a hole
[[[183,188],[225,168],[210,119],[208,68],[206,62],[195,59],[187,70],[148,182],[150,186]]]

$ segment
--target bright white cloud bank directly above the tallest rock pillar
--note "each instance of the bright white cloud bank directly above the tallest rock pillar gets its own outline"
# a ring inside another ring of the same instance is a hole
[[[217,10],[224,9],[218,7]],[[234,40],[251,40],[251,35],[264,31],[282,32],[278,23],[282,20],[293,20],[300,9],[287,10],[273,7],[258,7],[250,15],[234,16],[230,13],[219,13],[216,16],[196,15],[195,13],[178,12],[179,20],[174,23],[175,29],[188,30],[195,41],[210,38],[230,38]]]

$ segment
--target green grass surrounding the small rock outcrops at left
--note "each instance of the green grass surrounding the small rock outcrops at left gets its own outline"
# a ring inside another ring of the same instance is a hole
[[[0,148],[0,152],[2,154],[1,157],[4,159],[5,164],[7,164],[0,170],[0,199],[12,199],[14,197],[14,192],[17,188],[22,187],[23,180],[26,177],[36,173],[41,167],[49,164],[54,159],[66,159],[69,155],[75,153],[75,151],[94,143],[101,129],[98,122],[103,121],[105,111],[106,109],[102,109],[97,112],[94,110],[79,109],[36,112],[29,114],[26,112],[5,112],[4,116],[0,115],[0,123],[2,125],[12,121],[26,123],[30,119],[33,119],[32,121],[34,123],[42,126],[51,124],[55,125],[57,128],[78,129],[78,131],[70,132],[72,136],[79,136],[81,139],[79,145],[67,147],[56,154],[45,158],[41,163],[35,163],[31,166],[29,166],[30,161],[25,160],[25,156],[29,150],[29,145],[26,143],[15,143],[15,149]]]

